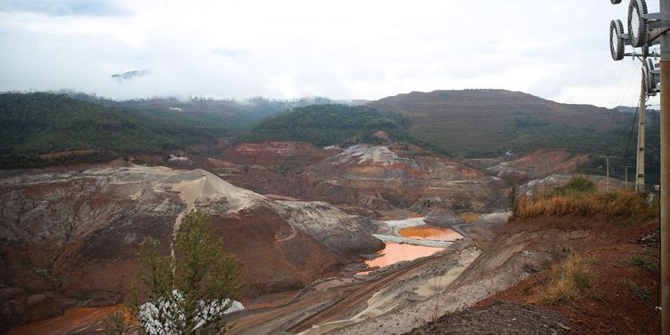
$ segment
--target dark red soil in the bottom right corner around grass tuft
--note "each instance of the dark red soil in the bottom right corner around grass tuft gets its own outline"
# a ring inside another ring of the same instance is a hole
[[[657,224],[627,229],[627,241],[607,243],[583,254],[594,260],[592,270],[593,296],[575,303],[542,305],[569,319],[571,332],[575,334],[658,334],[660,315],[655,307],[658,301],[658,244],[642,244],[635,241],[648,235]],[[621,232],[620,229],[613,229]],[[656,270],[630,265],[632,257],[649,261]],[[537,293],[538,283],[548,270],[489,299],[477,306],[491,305],[496,301],[529,304]],[[632,287],[649,291],[649,297],[642,299],[635,295]]]

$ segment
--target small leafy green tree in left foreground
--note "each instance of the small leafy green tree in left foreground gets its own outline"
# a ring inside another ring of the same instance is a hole
[[[222,241],[215,239],[205,213],[190,211],[183,217],[173,256],[164,256],[161,244],[149,237],[142,245],[140,259],[141,290],[131,290],[129,305],[143,333],[190,335],[225,331],[222,316],[232,306],[240,263],[223,254]],[[146,302],[140,304],[138,297]],[[113,333],[125,333],[110,319]]]

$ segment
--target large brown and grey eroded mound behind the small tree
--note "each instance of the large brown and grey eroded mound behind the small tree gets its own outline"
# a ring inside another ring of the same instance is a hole
[[[202,170],[91,168],[0,179],[0,320],[58,315],[123,298],[147,237],[165,253],[182,214],[208,213],[242,260],[242,298],[295,289],[381,242],[326,203],[276,202]],[[321,224],[326,222],[326,224]]]

